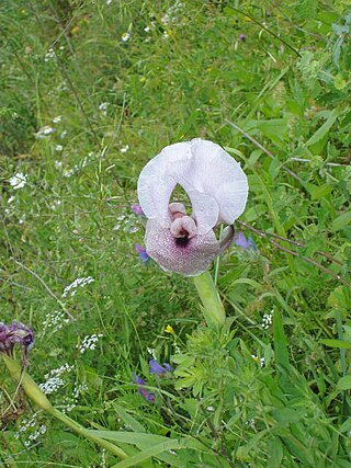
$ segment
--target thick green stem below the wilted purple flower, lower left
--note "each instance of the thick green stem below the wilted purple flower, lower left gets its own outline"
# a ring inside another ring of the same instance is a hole
[[[71,420],[66,414],[61,413],[60,411],[56,410],[49,400],[47,399],[46,395],[43,392],[43,390],[39,388],[39,386],[33,380],[33,378],[21,367],[20,363],[12,359],[11,357],[7,356],[5,354],[2,354],[3,362],[5,363],[8,369],[10,370],[11,377],[22,386],[23,390],[25,391],[25,395],[34,401],[35,404],[41,407],[44,411],[47,411],[49,414],[61,421],[64,424],[66,424],[68,427],[72,429],[75,432],[77,432],[80,435],[83,435],[86,438],[89,438],[89,441],[94,442],[95,444],[100,445],[101,447],[109,450],[111,454],[116,455],[120,458],[127,458],[127,455],[122,448],[117,447],[114,444],[111,444],[110,442],[98,437],[95,435],[92,435],[91,432],[77,423],[76,421]]]

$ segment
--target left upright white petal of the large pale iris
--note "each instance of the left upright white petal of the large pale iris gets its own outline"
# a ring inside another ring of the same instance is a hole
[[[138,197],[149,219],[169,219],[169,199],[177,183],[188,172],[190,147],[190,141],[170,145],[143,169],[138,179]]]

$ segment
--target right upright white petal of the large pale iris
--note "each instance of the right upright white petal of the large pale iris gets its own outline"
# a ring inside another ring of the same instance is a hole
[[[181,185],[211,195],[219,206],[219,221],[231,225],[245,209],[248,181],[240,163],[219,145],[196,138],[191,144],[192,158]]]

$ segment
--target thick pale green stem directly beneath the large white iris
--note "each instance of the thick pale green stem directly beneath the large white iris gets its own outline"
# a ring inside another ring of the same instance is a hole
[[[194,277],[195,287],[204,306],[203,313],[206,323],[211,328],[224,326],[226,311],[223,307],[217,288],[208,272]]]

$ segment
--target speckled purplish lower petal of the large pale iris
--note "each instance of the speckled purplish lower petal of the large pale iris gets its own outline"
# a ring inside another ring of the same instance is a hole
[[[165,271],[185,276],[207,270],[222,250],[213,230],[192,239],[176,239],[169,228],[154,219],[147,221],[145,243],[148,255]]]

